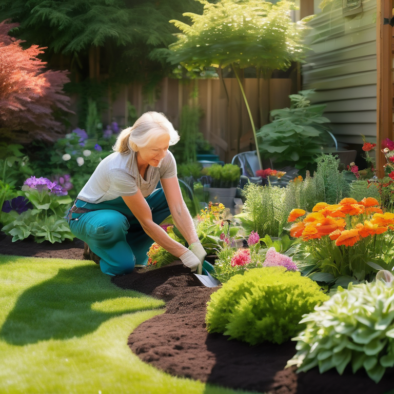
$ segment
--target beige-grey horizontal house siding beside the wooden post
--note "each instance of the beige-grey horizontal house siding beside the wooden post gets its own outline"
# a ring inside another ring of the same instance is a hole
[[[327,104],[333,134],[346,144],[361,144],[361,134],[376,140],[376,0],[362,5],[344,17],[335,2],[309,22],[303,65],[303,89],[316,89],[311,101]]]

